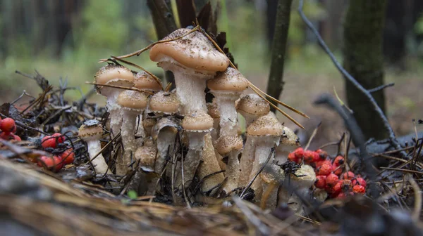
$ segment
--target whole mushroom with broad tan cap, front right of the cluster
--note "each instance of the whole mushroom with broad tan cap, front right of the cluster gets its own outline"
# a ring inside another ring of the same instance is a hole
[[[243,173],[250,173],[250,180],[254,178],[256,173],[264,164],[266,159],[271,154],[271,148],[279,145],[281,139],[283,126],[278,122],[274,113],[269,112],[268,114],[259,117],[247,127],[247,136],[253,138],[255,143],[255,159],[252,163],[251,171],[242,170]],[[269,159],[269,164],[273,162],[273,157]],[[256,178],[252,183],[251,188],[255,190],[256,197],[262,195],[262,183],[259,178]]]

